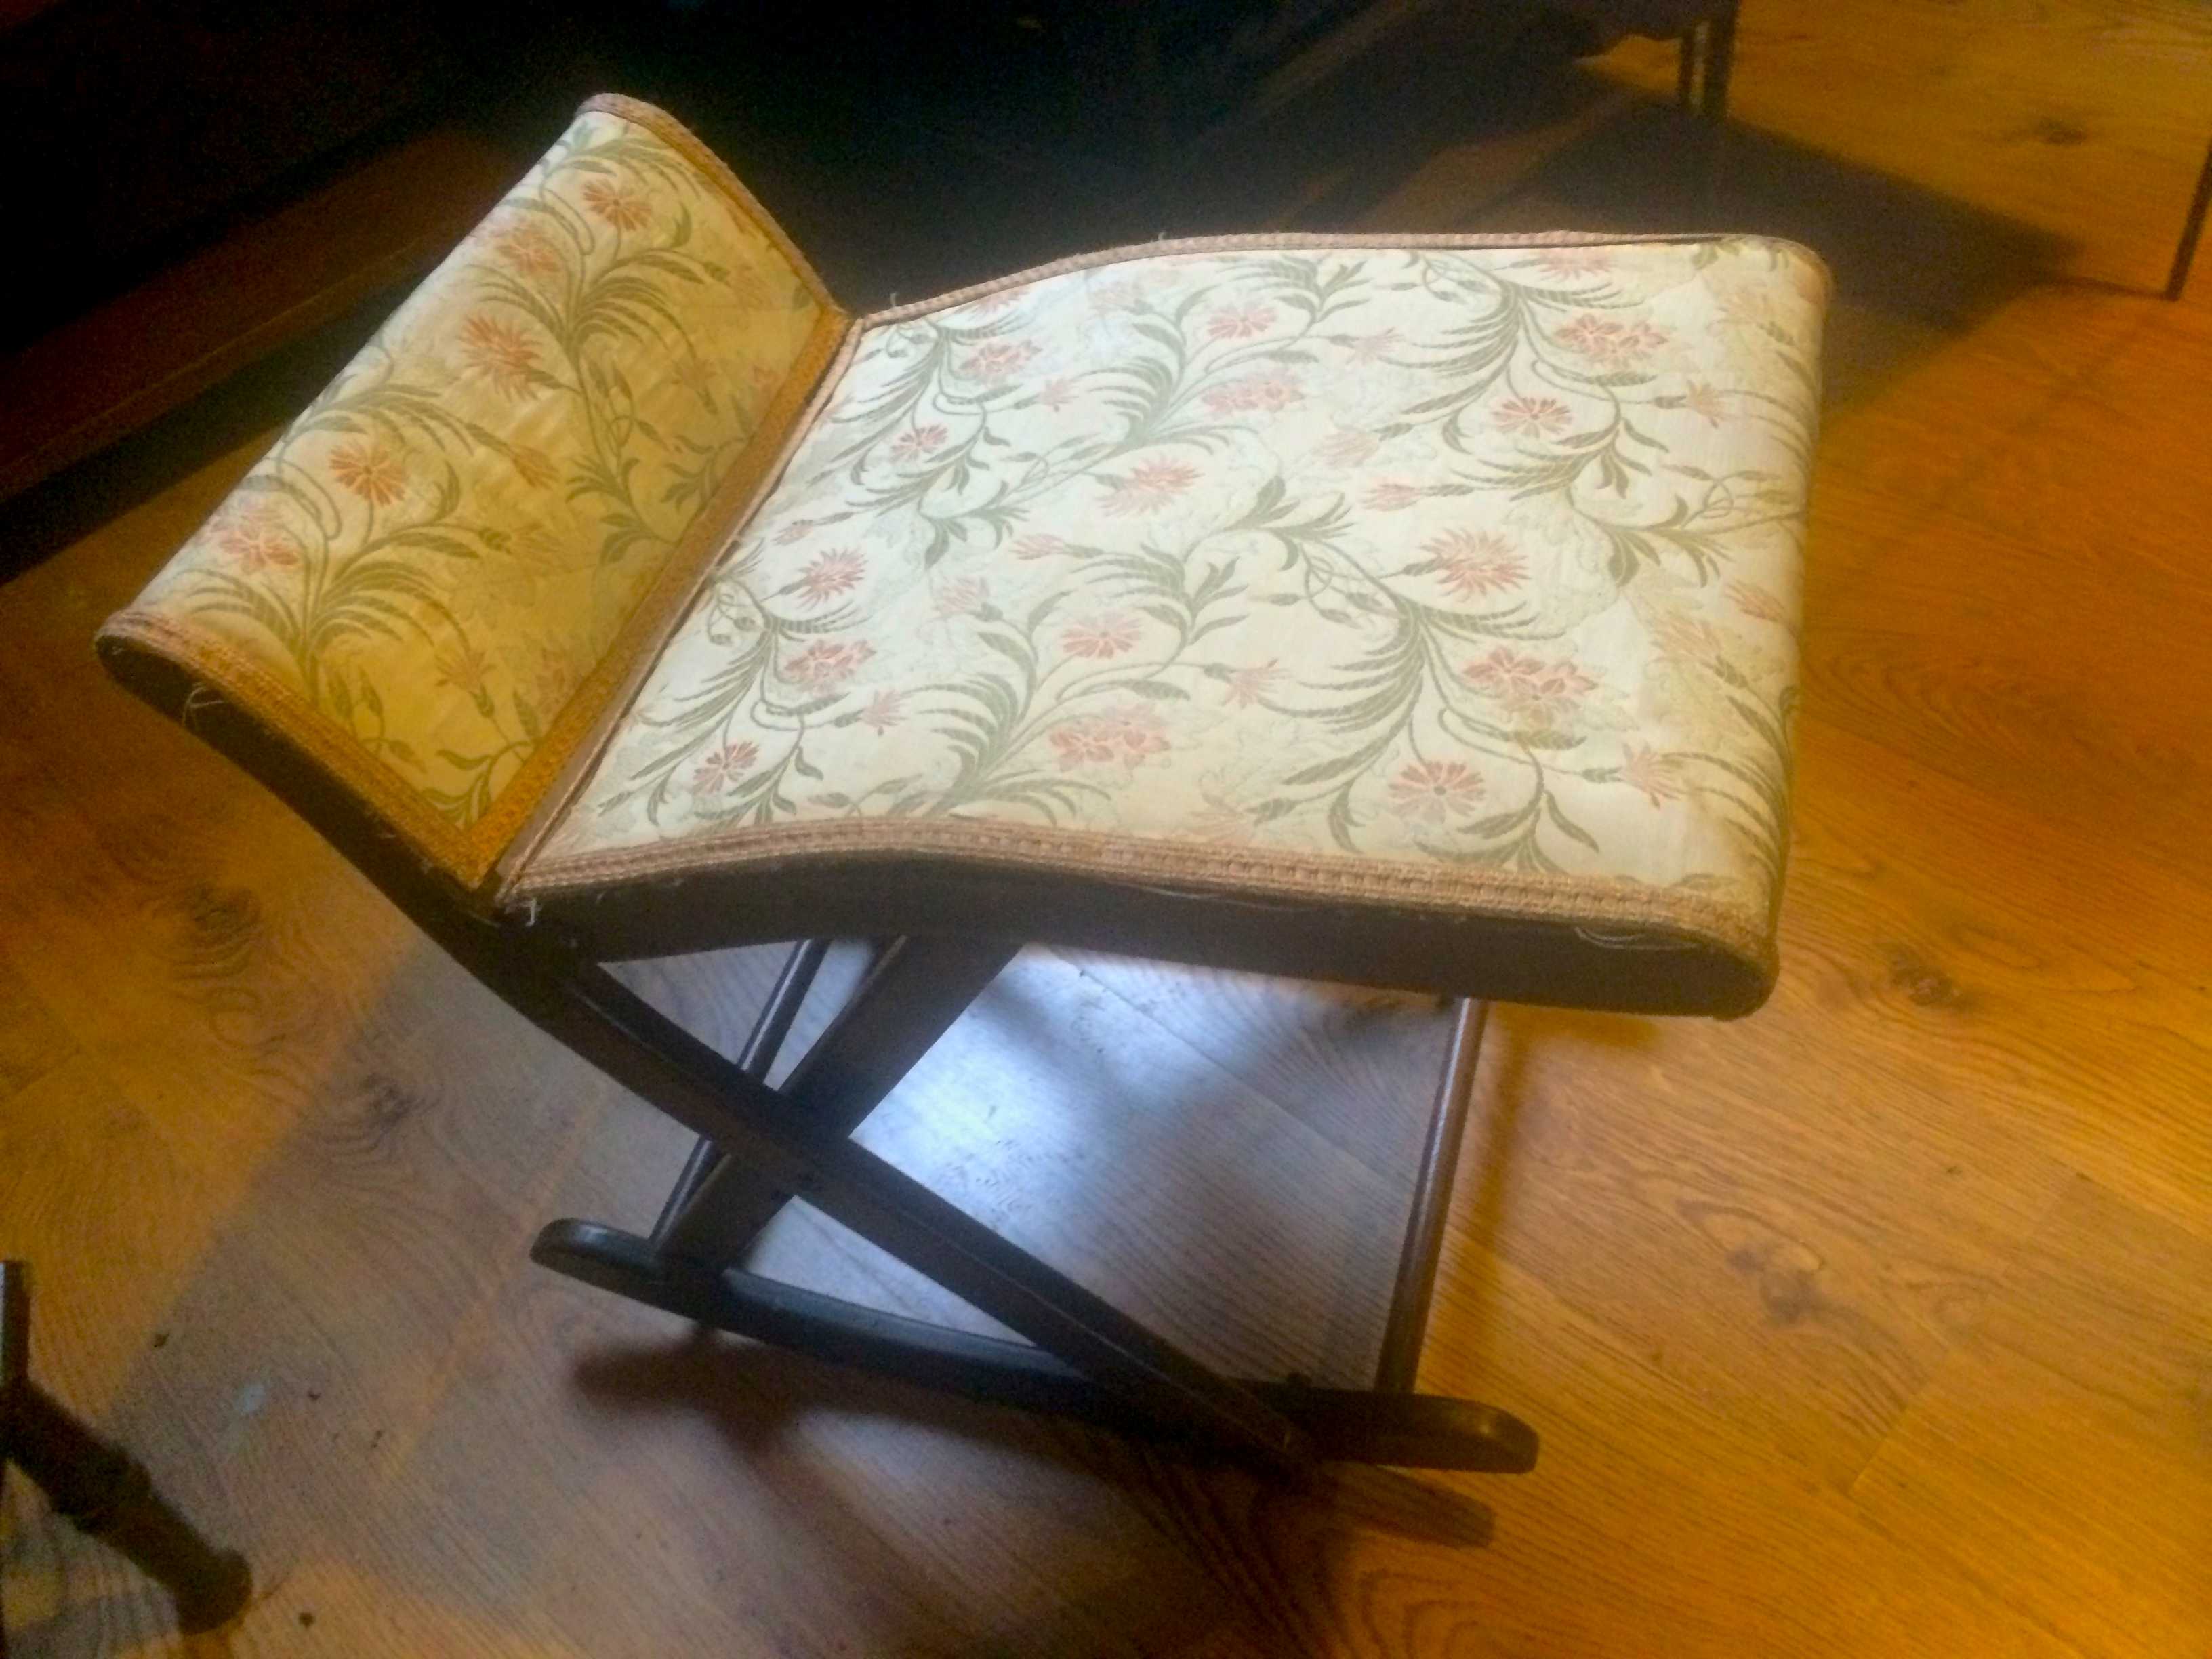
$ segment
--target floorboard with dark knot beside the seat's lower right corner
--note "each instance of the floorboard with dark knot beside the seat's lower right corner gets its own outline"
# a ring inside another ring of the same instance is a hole
[[[1792,969],[1756,1026],[1787,1018],[1820,1077],[2033,1141],[2212,1237],[2212,887],[1823,721],[1798,803]]]

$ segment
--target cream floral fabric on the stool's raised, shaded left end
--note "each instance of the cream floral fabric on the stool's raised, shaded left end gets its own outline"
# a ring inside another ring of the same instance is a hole
[[[686,146],[586,106],[111,624],[272,686],[248,701],[465,876],[834,343],[779,232]]]

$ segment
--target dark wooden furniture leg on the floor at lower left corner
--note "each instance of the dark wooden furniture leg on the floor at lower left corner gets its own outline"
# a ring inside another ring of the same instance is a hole
[[[208,1544],[153,1489],[144,1464],[108,1444],[31,1383],[31,1283],[0,1261],[0,1475],[15,1464],[55,1513],[155,1579],[177,1604],[177,1628],[215,1630],[252,1595],[246,1557]],[[7,1615],[0,1610],[0,1659]]]

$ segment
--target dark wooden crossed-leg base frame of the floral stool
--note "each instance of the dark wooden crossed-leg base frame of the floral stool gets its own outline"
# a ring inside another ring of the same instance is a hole
[[[1225,1378],[852,1139],[858,1121],[1020,949],[975,936],[885,945],[783,1086],[774,1064],[821,945],[799,945],[730,1060],[615,980],[551,922],[493,911],[400,845],[314,761],[215,688],[128,641],[108,670],[261,779],[409,920],[511,1009],[699,1135],[650,1237],[555,1221],[533,1259],[703,1325],[907,1383],[1108,1422],[1261,1469],[1316,1460],[1520,1473],[1535,1431],[1486,1405],[1411,1391],[1442,1243],[1480,1004],[1462,1004],[1422,1159],[1376,1389]],[[1026,1343],[894,1318],[750,1274],[745,1252],[792,1197],[933,1279]]]

